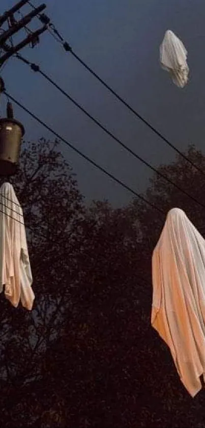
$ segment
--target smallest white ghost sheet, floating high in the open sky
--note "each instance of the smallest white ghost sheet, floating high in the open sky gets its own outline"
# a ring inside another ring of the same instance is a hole
[[[183,88],[188,82],[187,50],[171,30],[167,30],[160,46],[160,63],[169,71],[172,81]]]

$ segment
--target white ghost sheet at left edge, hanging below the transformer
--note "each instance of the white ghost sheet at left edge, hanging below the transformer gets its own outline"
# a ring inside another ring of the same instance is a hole
[[[15,307],[19,301],[32,310],[34,292],[28,256],[23,212],[13,186],[4,183],[0,188],[0,292]]]

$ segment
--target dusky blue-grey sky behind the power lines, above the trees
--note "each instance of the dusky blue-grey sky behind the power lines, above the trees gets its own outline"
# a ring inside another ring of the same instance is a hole
[[[35,2],[39,5],[40,2]],[[2,0],[0,13],[13,0]],[[22,12],[26,12],[26,7]],[[48,0],[46,13],[73,51],[147,118],[175,146],[190,142],[203,149],[205,134],[205,4],[203,0]],[[39,22],[35,22],[35,27]],[[190,82],[182,90],[159,66],[159,45],[170,29],[188,49]],[[112,96],[61,45],[41,36],[22,55],[39,63],[63,89],[117,137],[153,165],[170,162],[173,151]],[[11,59],[2,72],[7,90],[56,132],[75,144],[136,191],[148,184],[150,170],[132,158],[39,74]],[[1,102],[2,114],[5,101]],[[52,139],[41,125],[15,107],[26,139]],[[132,195],[106,178],[64,144],[80,190],[89,201],[108,198],[114,206]]]

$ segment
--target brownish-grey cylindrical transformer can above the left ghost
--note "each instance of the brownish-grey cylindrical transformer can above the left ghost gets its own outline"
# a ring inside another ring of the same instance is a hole
[[[0,119],[0,175],[16,173],[24,132],[18,120]]]

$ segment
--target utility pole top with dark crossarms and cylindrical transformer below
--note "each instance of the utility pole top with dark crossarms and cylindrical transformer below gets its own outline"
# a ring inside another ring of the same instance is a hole
[[[21,0],[3,15],[0,15],[0,72],[5,61],[17,54],[23,47],[28,44],[34,47],[39,43],[40,34],[48,28],[49,21],[42,14],[46,5],[42,4],[27,15],[23,15],[19,10],[26,3],[27,0]],[[19,20],[15,16],[16,13],[18,16],[21,15]],[[27,27],[27,24],[37,15],[41,18],[43,27],[33,32]],[[15,45],[13,37],[22,30],[25,30],[27,35]],[[4,81],[0,76],[0,94],[4,91]],[[23,135],[24,127],[21,122],[14,118],[12,104],[8,101],[7,117],[0,118],[0,175],[7,177],[16,173]]]

